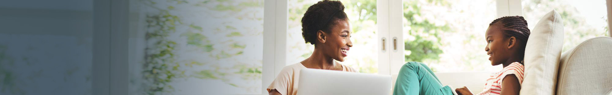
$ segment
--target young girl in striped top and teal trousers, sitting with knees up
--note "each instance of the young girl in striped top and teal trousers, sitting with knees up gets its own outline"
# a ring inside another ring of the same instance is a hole
[[[485,33],[491,65],[504,68],[492,74],[479,95],[518,94],[523,82],[523,57],[529,38],[527,21],[522,16],[505,16],[495,19]],[[472,94],[466,87],[455,92],[442,86],[438,77],[425,64],[408,62],[401,67],[395,82],[395,95],[405,94]]]

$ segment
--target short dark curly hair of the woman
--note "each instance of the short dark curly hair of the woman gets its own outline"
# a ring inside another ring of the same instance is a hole
[[[330,33],[337,21],[348,20],[340,1],[319,1],[310,5],[302,17],[302,37],[306,43],[316,44],[316,32],[322,30]]]

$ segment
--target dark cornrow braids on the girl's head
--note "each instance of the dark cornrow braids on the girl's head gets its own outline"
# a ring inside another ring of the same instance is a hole
[[[503,26],[502,30],[508,37],[516,37],[523,41],[523,44],[527,43],[529,38],[529,28],[527,27],[527,21],[523,16],[504,16],[493,20],[489,26],[493,24],[499,24]]]

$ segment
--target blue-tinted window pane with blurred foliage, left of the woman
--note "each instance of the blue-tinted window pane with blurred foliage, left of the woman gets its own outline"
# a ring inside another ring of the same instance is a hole
[[[263,0],[130,7],[130,94],[261,93]]]

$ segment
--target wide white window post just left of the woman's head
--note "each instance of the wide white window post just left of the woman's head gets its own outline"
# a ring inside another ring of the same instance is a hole
[[[261,94],[267,94],[280,70],[286,66],[287,1],[264,1],[264,47]]]

